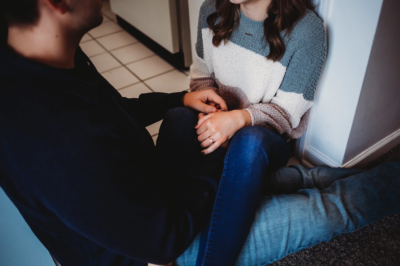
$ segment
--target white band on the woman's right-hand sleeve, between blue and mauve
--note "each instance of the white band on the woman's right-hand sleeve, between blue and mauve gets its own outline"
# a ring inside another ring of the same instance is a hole
[[[292,128],[297,128],[300,118],[310,109],[312,101],[306,100],[303,94],[278,91],[271,103],[278,104],[289,114],[289,123]]]

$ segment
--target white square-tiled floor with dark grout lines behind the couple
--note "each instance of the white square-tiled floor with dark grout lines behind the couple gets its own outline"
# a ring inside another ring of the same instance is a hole
[[[175,69],[122,29],[108,1],[103,1],[102,13],[103,23],[84,35],[80,47],[122,96],[137,98],[141,93],[189,89],[189,72]],[[154,143],[160,124],[147,127]]]

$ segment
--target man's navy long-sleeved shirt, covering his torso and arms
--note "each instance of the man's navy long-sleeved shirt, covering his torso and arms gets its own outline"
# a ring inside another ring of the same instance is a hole
[[[182,106],[185,92],[124,98],[79,48],[70,70],[4,43],[0,58],[0,185],[60,264],[178,257],[211,210],[218,180],[189,178],[168,197],[154,184],[162,173],[149,166],[155,147],[145,126]]]

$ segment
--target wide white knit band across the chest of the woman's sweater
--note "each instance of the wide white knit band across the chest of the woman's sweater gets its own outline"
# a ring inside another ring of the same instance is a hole
[[[215,47],[209,29],[203,29],[202,35],[204,59],[221,83],[240,88],[252,104],[267,103],[274,97],[286,67],[231,41]]]

